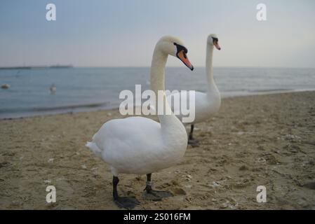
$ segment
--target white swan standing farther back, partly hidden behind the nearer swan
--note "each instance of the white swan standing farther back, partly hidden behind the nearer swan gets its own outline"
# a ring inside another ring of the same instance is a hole
[[[215,85],[215,80],[213,79],[213,48],[215,47],[217,48],[217,50],[221,50],[218,41],[219,40],[216,34],[210,34],[207,38],[206,76],[208,80],[208,90],[206,93],[196,92],[195,120],[193,123],[187,123],[191,125],[188,144],[191,144],[193,146],[197,145],[197,142],[198,142],[193,138],[194,124],[200,123],[210,118],[210,116],[213,116],[213,113],[217,112],[220,109],[220,105],[221,105],[220,92],[219,90],[217,90],[217,85]],[[180,94],[180,92],[169,94],[167,96],[168,102],[171,102],[171,97],[175,97],[174,99],[176,99],[177,97],[185,97],[185,99],[182,99],[182,100],[189,101],[189,99],[187,99],[186,94],[182,94],[181,96],[178,96],[178,94]],[[188,105],[188,102],[187,102],[187,105]],[[172,111],[173,111],[173,108],[172,108]],[[180,118],[180,120],[182,120],[182,113],[177,115],[177,118]]]

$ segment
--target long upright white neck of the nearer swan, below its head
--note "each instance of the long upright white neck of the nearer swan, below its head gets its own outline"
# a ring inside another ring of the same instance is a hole
[[[156,100],[156,112],[159,111],[159,106],[163,106],[164,113],[163,114],[171,114],[170,116],[174,116],[168,101],[166,100],[165,94],[165,66],[168,59],[168,55],[161,52],[159,48],[154,49],[152,64],[151,64],[151,89],[154,91],[156,95],[156,99],[158,99],[159,92],[163,94],[163,104],[158,104]],[[160,90],[160,91],[159,91]],[[165,120],[166,115],[158,115],[161,124],[163,125],[163,120]],[[175,117],[175,116],[174,116]]]

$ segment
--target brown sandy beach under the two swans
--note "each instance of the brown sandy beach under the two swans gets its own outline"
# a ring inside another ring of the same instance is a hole
[[[315,92],[222,100],[217,116],[195,125],[175,167],[153,174],[175,195],[145,200],[145,175],[121,174],[119,193],[135,209],[315,209]],[[0,209],[119,209],[109,168],[86,141],[118,110],[0,120]],[[188,127],[187,127],[188,129]],[[57,202],[46,203],[46,187]],[[257,186],[267,202],[256,201]]]

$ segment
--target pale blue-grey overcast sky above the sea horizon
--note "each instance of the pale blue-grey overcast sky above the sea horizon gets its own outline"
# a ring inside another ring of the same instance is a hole
[[[56,21],[46,20],[48,3]],[[256,20],[258,3],[267,21]],[[150,66],[168,34],[204,66],[210,33],[222,47],[215,66],[315,67],[314,0],[1,0],[0,66]]]

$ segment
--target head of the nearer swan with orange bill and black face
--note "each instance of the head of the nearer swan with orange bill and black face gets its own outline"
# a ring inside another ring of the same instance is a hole
[[[179,38],[174,36],[163,36],[158,43],[156,48],[159,48],[166,55],[172,55],[180,59],[190,70],[194,70],[194,66],[189,62],[187,57],[187,48]]]

